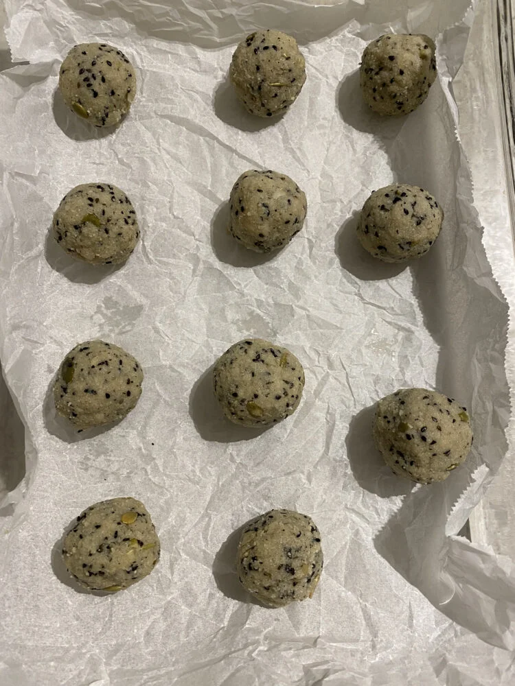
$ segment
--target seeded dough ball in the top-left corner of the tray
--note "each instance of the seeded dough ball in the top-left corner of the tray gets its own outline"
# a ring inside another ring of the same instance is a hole
[[[69,108],[94,126],[119,123],[136,95],[136,73],[123,52],[106,43],[71,48],[59,72]]]

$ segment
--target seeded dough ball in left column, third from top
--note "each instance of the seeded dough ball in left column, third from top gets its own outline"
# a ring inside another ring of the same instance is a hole
[[[100,340],[79,343],[59,368],[56,410],[81,430],[111,424],[136,407],[142,382],[141,367],[122,348]]]

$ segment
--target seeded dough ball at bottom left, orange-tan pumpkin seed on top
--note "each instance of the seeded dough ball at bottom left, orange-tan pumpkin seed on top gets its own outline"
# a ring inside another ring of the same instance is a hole
[[[159,539],[143,503],[113,498],[77,517],[62,543],[67,570],[94,591],[121,591],[150,574],[159,560]]]

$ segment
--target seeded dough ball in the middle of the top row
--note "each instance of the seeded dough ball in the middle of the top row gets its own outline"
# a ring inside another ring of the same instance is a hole
[[[297,41],[281,31],[255,31],[233,54],[229,78],[251,115],[279,115],[295,102],[306,81]]]

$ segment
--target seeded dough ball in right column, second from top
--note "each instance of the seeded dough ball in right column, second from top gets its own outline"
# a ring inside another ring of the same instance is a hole
[[[430,193],[393,184],[375,191],[363,205],[358,239],[383,262],[422,257],[437,239],[444,212]]]

